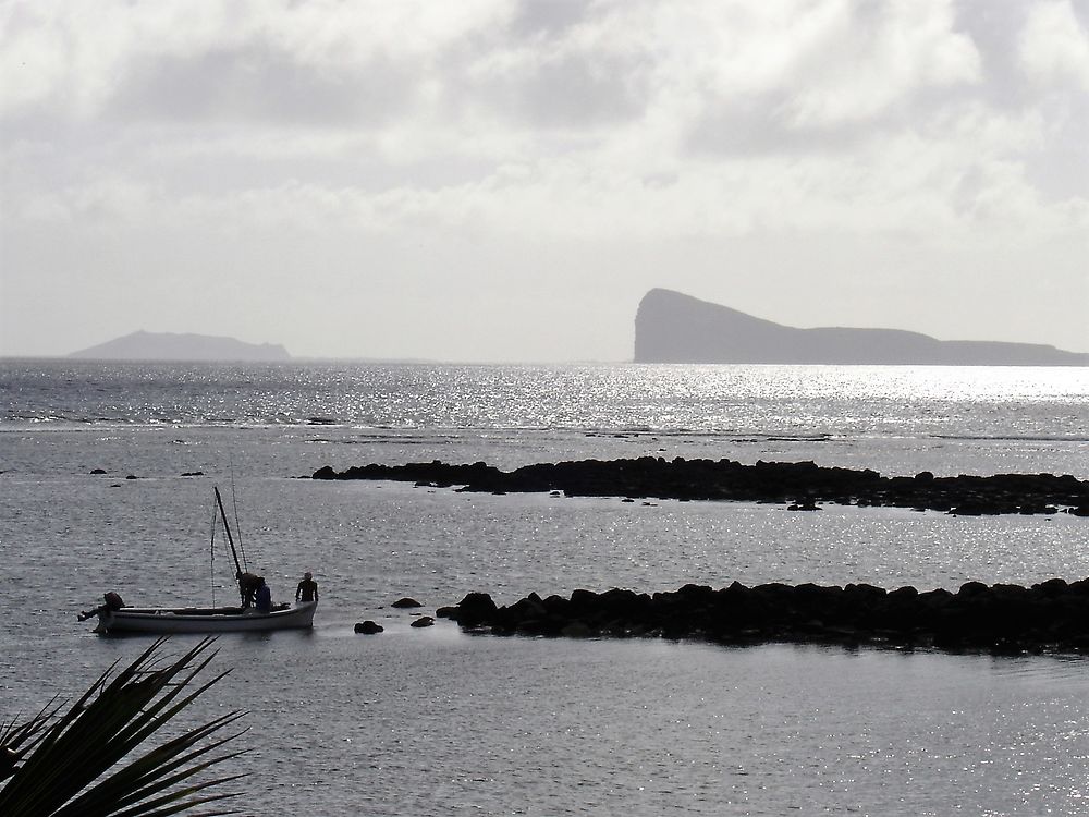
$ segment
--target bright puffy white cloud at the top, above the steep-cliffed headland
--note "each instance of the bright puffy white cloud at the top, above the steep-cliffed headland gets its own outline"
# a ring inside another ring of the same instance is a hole
[[[651,105],[758,99],[787,125],[873,118],[932,87],[975,83],[980,61],[947,0],[612,3],[596,51],[645,65]]]

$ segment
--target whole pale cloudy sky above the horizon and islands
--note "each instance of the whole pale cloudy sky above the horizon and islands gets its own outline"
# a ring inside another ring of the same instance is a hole
[[[654,286],[1089,352],[1089,3],[0,0],[0,355],[625,361]]]

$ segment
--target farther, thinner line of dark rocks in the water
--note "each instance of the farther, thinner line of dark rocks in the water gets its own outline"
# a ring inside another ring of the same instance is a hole
[[[582,460],[536,463],[512,472],[482,462],[456,465],[435,460],[406,465],[370,464],[335,472],[326,466],[315,479],[394,479],[463,491],[513,493],[563,491],[573,497],[739,500],[794,504],[817,502],[888,505],[959,515],[1056,513],[1060,508],[1089,516],[1089,480],[1052,474],[938,477],[922,472],[884,477],[876,471],[824,467],[812,462],[685,460]]]

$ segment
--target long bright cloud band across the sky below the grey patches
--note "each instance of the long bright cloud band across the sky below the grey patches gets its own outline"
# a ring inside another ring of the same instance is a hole
[[[910,234],[944,243],[988,234],[1021,241],[1085,227],[1085,208],[1041,199],[1017,160],[1045,138],[1038,117],[969,106],[849,154],[739,157],[665,173],[611,144],[507,161],[465,181],[377,186],[308,181],[179,192],[124,173],[28,196],[28,215],[72,224],[103,218],[260,233],[470,231],[551,241],[673,241],[754,233]],[[201,159],[203,160],[203,159]],[[633,172],[635,167],[645,172]],[[1074,219],[1074,221],[1072,221]],[[1080,221],[1078,221],[1080,219]]]

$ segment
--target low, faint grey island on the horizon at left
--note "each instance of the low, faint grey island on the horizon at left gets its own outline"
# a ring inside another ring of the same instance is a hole
[[[273,343],[245,343],[234,338],[138,331],[69,357],[99,361],[290,361],[287,350]]]

